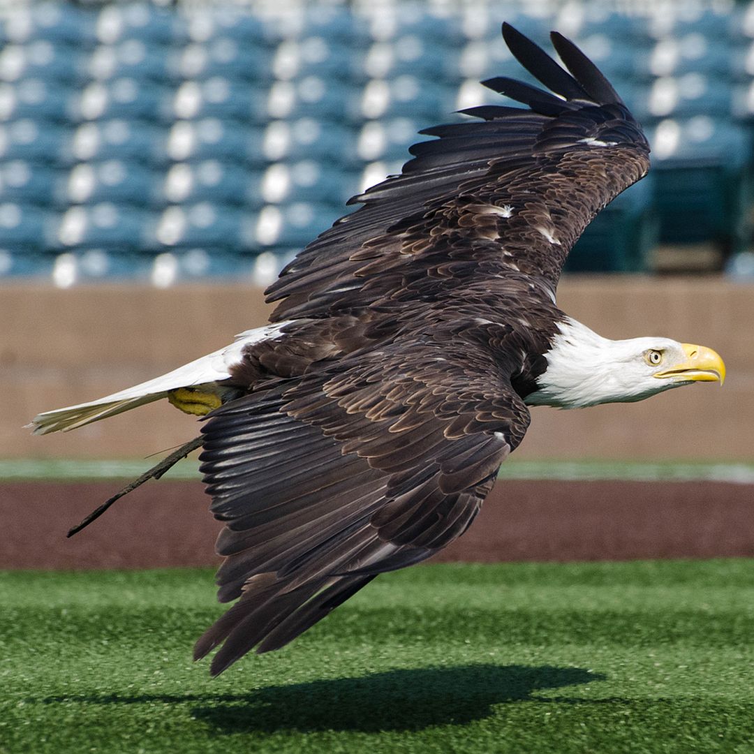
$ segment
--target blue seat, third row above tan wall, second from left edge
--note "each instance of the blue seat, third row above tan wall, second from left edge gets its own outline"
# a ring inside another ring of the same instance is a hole
[[[62,182],[62,204],[133,204],[148,206],[158,195],[154,171],[134,161],[82,162]]]

